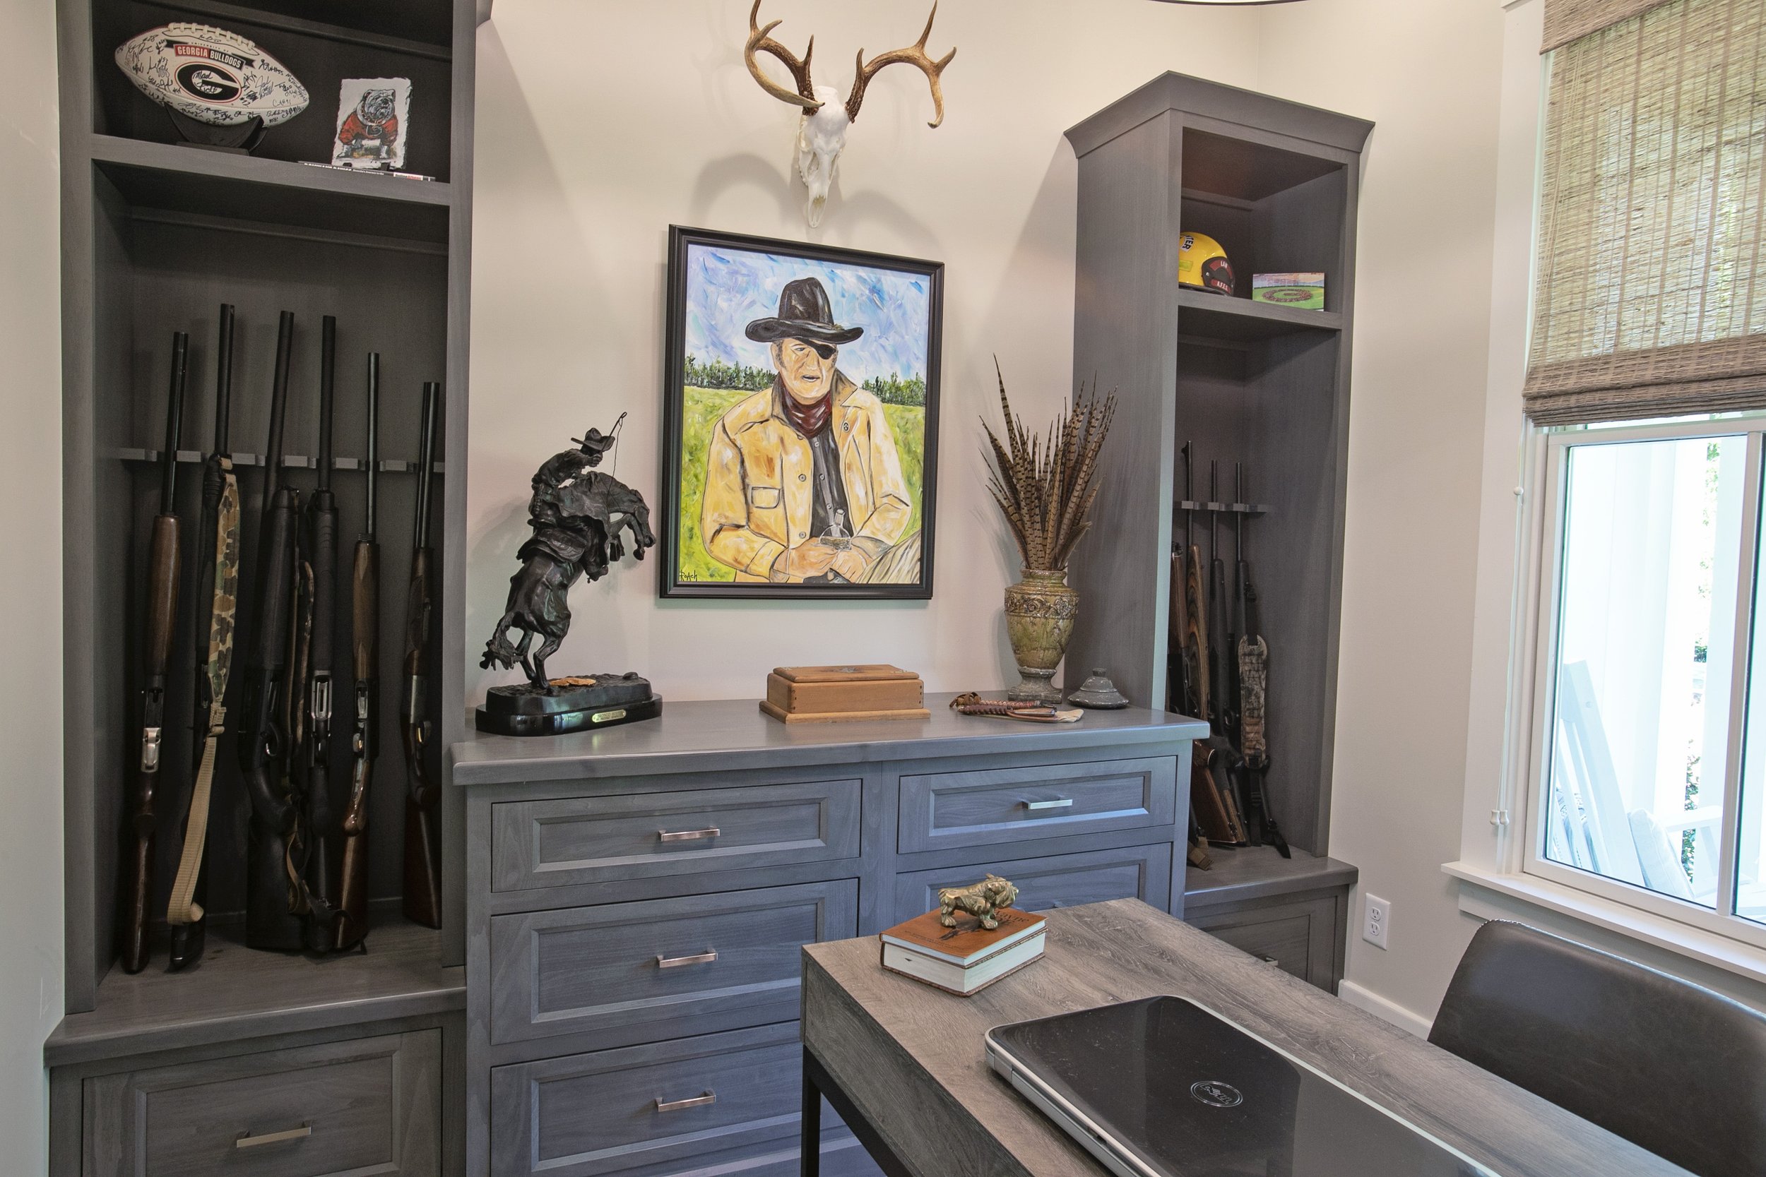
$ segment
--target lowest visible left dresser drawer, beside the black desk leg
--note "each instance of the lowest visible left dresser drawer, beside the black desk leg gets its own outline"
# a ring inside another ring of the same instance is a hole
[[[795,1136],[800,1066],[784,1022],[496,1068],[491,1177],[743,1172]]]

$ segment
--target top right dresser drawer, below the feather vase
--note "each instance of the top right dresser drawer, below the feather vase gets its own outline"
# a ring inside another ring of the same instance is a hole
[[[1169,826],[1176,757],[901,778],[902,854]]]

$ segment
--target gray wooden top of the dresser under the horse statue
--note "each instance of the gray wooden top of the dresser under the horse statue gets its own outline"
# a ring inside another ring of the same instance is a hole
[[[570,736],[486,736],[450,748],[456,785],[639,776],[706,769],[864,764],[948,755],[1070,752],[1130,753],[1137,745],[1199,739],[1201,720],[1128,708],[1086,711],[1077,723],[1019,723],[957,715],[954,695],[927,695],[927,720],[781,723],[756,699],[664,702],[655,720]]]

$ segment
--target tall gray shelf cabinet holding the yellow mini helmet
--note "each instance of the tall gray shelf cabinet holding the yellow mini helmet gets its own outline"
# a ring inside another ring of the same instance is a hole
[[[1355,215],[1370,131],[1360,118],[1166,74],[1067,132],[1079,157],[1074,374],[1095,374],[1118,397],[1093,529],[1070,577],[1081,612],[1068,685],[1107,667],[1136,706],[1167,706],[1171,552],[1187,499],[1261,505],[1243,526],[1270,642],[1268,792],[1293,845],[1319,858],[1337,708]],[[1181,233],[1222,244],[1234,296],[1178,286]],[[1252,274],[1319,270],[1323,311],[1249,298]],[[1220,462],[1219,491],[1210,459]],[[1247,469],[1238,496],[1236,461]],[[1196,528],[1213,556],[1210,522],[1197,515]],[[1236,522],[1220,517],[1227,558]]]

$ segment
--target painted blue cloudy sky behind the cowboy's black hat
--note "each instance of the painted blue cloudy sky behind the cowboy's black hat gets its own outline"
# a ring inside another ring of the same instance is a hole
[[[798,277],[821,279],[835,323],[865,328],[841,348],[841,371],[855,383],[925,376],[931,279],[745,249],[687,247],[687,353],[701,362],[772,367],[766,344],[742,332],[752,319],[777,314],[779,291]]]

